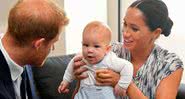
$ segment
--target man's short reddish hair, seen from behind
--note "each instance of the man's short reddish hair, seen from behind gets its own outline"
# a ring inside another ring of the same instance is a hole
[[[10,10],[7,33],[25,46],[38,38],[49,42],[67,24],[66,14],[52,0],[19,0]]]

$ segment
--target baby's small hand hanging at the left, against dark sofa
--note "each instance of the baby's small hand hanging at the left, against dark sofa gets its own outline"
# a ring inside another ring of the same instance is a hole
[[[58,92],[59,93],[68,93],[69,92],[69,82],[67,81],[62,81],[58,87]]]

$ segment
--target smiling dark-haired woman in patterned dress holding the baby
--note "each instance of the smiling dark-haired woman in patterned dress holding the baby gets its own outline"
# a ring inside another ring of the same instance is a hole
[[[174,53],[155,44],[160,34],[169,36],[173,25],[167,6],[161,0],[137,0],[123,18],[123,44],[112,50],[134,66],[134,77],[127,89],[130,99],[175,99],[183,73],[183,63]],[[85,69],[81,57],[75,59],[77,79]],[[119,75],[111,70],[97,70],[97,85],[115,86]]]

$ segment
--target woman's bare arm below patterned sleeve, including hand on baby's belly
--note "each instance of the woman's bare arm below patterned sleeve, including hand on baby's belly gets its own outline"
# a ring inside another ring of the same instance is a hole
[[[176,99],[182,72],[183,69],[180,68],[160,82],[156,90],[156,99]],[[111,85],[114,87],[120,77],[118,73],[111,70],[97,70],[97,74],[97,85]],[[148,99],[133,82],[127,89],[127,95],[130,99]]]

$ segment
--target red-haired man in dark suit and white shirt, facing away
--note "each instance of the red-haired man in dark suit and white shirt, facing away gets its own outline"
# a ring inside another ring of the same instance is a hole
[[[67,23],[65,13],[53,0],[17,2],[10,10],[7,32],[0,39],[0,99],[36,99],[29,88],[33,87],[30,75],[24,72],[26,76],[21,76],[24,69],[29,71],[24,67],[42,66]],[[22,80],[25,77],[27,81]]]

